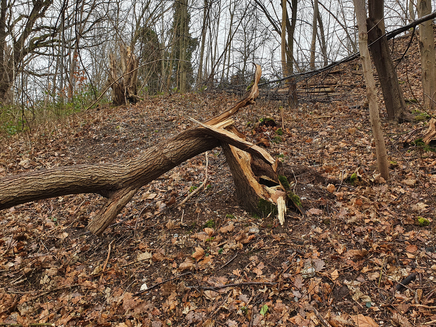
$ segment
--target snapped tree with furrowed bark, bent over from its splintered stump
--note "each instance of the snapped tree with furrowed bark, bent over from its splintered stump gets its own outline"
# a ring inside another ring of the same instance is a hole
[[[276,162],[265,150],[247,142],[245,136],[233,126],[233,121],[228,119],[239,109],[255,103],[254,100],[259,95],[257,83],[260,75],[260,66],[256,65],[255,83],[251,91],[232,108],[206,123],[196,121],[199,126],[151,147],[129,162],[58,167],[1,178],[0,210],[62,195],[97,193],[107,198],[107,201],[88,227],[91,232],[100,235],[140,187],[182,162],[221,145],[232,170],[242,206],[249,211],[265,213],[258,208],[259,202],[263,199],[267,203],[275,203],[273,198],[277,198],[274,195],[277,188],[259,184],[251,164],[254,158],[263,161],[266,168],[261,174],[269,175],[278,185]],[[259,166],[262,165],[258,164]],[[281,195],[286,198],[286,194]]]

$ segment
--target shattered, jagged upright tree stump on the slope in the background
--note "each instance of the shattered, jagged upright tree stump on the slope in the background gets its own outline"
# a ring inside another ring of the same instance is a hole
[[[120,61],[117,62],[115,54],[109,54],[109,75],[105,85],[112,89],[112,102],[116,106],[125,103],[136,103],[141,98],[138,96],[137,76],[139,59],[133,54],[133,49],[124,44],[119,47]],[[121,78],[118,76],[118,72]]]

